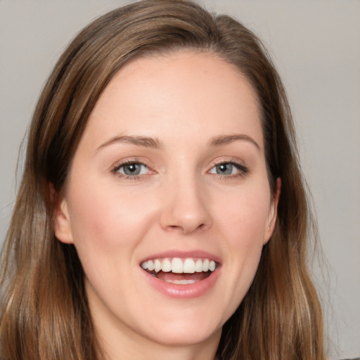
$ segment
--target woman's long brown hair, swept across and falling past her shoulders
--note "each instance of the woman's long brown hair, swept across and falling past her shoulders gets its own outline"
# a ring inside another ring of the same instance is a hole
[[[206,51],[235,65],[257,92],[269,183],[282,181],[276,229],[240,307],[224,328],[224,360],[323,360],[321,307],[307,268],[311,214],[281,80],[257,37],[191,1],[146,0],[94,20],[60,57],[30,127],[23,180],[1,259],[0,356],[98,359],[84,274],[53,230],[91,110],[113,75],[139,56]]]

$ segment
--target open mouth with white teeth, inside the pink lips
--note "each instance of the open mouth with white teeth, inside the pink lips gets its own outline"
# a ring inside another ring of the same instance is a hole
[[[179,257],[151,259],[140,265],[155,278],[179,285],[202,281],[208,278],[218,266],[217,262],[210,259],[181,259]]]

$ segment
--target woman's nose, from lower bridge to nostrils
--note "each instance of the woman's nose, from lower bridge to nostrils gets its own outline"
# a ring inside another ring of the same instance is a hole
[[[165,187],[163,196],[165,206],[160,215],[162,229],[187,235],[212,226],[209,198],[195,179],[173,181]]]

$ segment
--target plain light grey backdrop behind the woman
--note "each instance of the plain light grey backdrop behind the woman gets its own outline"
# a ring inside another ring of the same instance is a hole
[[[323,271],[315,265],[314,274],[330,359],[360,356],[360,1],[203,3],[255,31],[283,77],[319,219]],[[41,86],[75,33],[122,4],[0,0],[0,243],[15,198],[18,148]]]

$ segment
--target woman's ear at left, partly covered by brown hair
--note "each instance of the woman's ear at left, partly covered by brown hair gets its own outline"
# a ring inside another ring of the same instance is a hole
[[[68,211],[68,203],[66,202],[65,196],[54,195],[54,189],[51,188],[51,198],[53,198],[53,204],[55,206],[55,224],[54,231],[55,236],[62,243],[72,244],[72,231],[70,224],[70,216]]]

